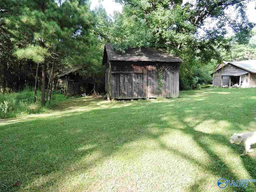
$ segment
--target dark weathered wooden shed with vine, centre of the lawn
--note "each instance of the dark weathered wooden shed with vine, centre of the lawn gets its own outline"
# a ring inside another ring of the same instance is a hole
[[[179,96],[182,60],[155,48],[126,50],[105,45],[105,88],[110,99],[174,98]]]

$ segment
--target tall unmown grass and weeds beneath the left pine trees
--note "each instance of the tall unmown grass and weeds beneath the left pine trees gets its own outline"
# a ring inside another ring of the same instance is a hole
[[[38,91],[35,104],[33,100],[34,92],[30,88],[26,88],[22,92],[0,94],[0,119],[51,112],[58,102],[63,102],[68,98],[63,94],[53,92],[51,103],[46,102],[46,106],[42,108],[41,92]]]

